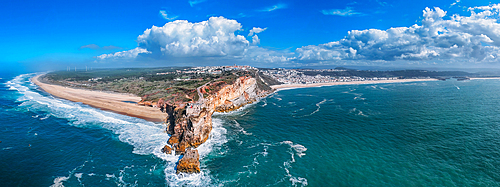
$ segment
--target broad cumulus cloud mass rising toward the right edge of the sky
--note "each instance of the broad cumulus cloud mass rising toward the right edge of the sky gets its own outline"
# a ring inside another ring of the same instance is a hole
[[[500,52],[498,10],[500,5],[473,7],[471,16],[445,19],[446,11],[426,8],[421,25],[352,30],[339,41],[296,52],[299,60],[317,61],[493,61]]]

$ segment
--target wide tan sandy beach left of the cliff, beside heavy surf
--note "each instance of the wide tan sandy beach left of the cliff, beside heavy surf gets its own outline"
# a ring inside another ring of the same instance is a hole
[[[38,80],[41,75],[33,77],[31,81],[53,96],[74,102],[81,102],[92,107],[113,111],[148,121],[162,122],[167,114],[153,107],[140,106],[134,103],[141,98],[131,94],[108,93],[83,89],[67,88],[58,85],[45,84]]]

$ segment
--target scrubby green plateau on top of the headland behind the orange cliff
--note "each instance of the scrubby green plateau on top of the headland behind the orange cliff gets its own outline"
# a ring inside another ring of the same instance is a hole
[[[219,69],[220,70],[220,69]],[[47,73],[41,81],[66,87],[131,93],[145,101],[164,98],[171,103],[198,100],[197,88],[209,82],[219,82],[217,88],[233,84],[241,76],[257,76],[255,70],[232,70],[218,73],[193,73],[189,67],[97,69],[91,71],[56,71]],[[263,90],[270,87],[258,80]]]

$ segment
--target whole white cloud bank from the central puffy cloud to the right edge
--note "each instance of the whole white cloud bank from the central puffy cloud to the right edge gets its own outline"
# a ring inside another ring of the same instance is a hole
[[[222,16],[197,23],[176,20],[146,29],[137,38],[137,48],[103,54],[97,59],[106,62],[195,58],[269,66],[497,64],[500,4],[471,7],[467,11],[470,16],[447,15],[439,7],[426,8],[420,25],[351,30],[338,41],[303,46],[293,52],[260,47],[257,34],[265,34],[268,27],[253,27],[245,37],[240,34],[245,32],[241,23]]]

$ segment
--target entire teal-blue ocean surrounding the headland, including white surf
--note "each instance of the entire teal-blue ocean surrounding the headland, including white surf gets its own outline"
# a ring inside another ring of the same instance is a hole
[[[500,80],[281,90],[214,115],[199,174],[165,125],[0,77],[1,186],[500,186]]]

